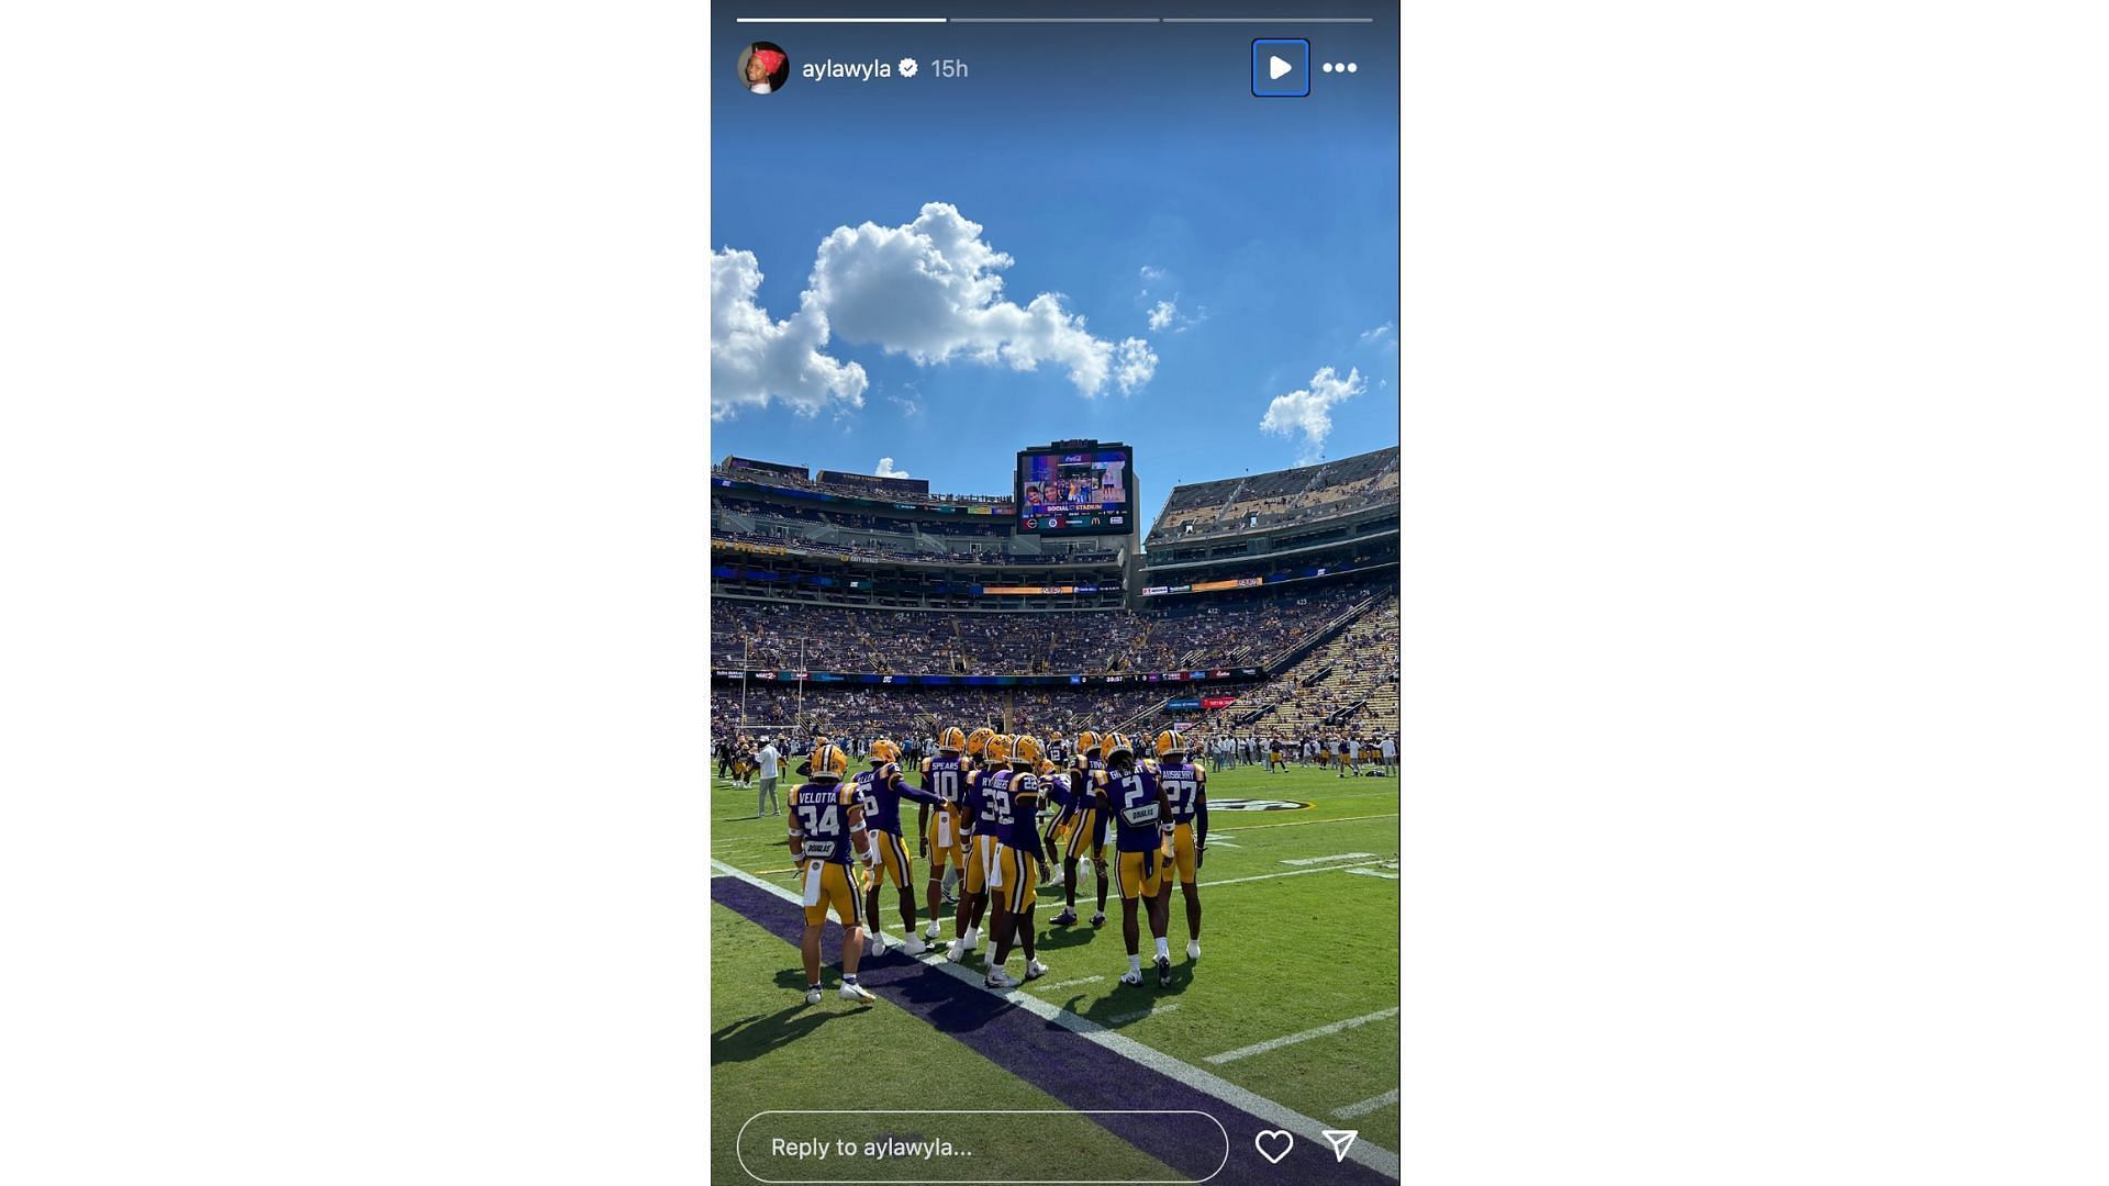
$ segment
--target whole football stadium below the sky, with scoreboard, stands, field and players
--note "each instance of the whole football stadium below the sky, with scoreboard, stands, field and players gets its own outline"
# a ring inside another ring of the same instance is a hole
[[[713,1171],[888,1110],[856,1180],[1396,1180],[1398,447],[1147,532],[1147,456],[1017,449],[713,466]]]

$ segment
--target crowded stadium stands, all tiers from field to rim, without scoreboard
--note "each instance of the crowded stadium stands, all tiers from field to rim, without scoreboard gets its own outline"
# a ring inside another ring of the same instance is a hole
[[[1211,692],[1238,699],[1179,713],[1204,734],[1301,747],[1398,732],[1396,525],[1365,513],[1396,502],[1396,447],[1179,485],[1141,557],[1128,555],[1130,538],[1023,536],[1008,498],[753,466],[713,471],[740,483],[713,490],[711,663],[721,673],[1270,675],[1082,688],[725,680],[711,696],[719,739],[905,741],[1006,705],[1019,730],[1154,728],[1173,720],[1168,696]],[[1208,542],[1175,547],[1194,538]],[[1002,572],[1012,566],[1021,572]]]

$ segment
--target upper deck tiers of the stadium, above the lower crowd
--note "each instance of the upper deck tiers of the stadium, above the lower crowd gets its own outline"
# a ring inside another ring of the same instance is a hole
[[[1133,534],[1023,532],[1000,496],[725,458],[713,468],[713,574],[721,597],[812,606],[1139,610],[1396,566],[1396,447],[1179,485],[1143,553]]]

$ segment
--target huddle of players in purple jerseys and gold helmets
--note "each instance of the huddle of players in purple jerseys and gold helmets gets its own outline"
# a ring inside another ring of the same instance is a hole
[[[1040,884],[1052,878],[1050,853],[1061,853],[1063,861],[1057,926],[1078,920],[1078,869],[1084,861],[1097,876],[1092,926],[1105,924],[1107,891],[1118,884],[1128,950],[1122,983],[1143,983],[1139,916],[1147,918],[1156,941],[1158,986],[1170,983],[1166,929],[1175,880],[1185,895],[1187,960],[1200,960],[1198,869],[1208,846],[1208,781],[1200,766],[1187,762],[1183,734],[1160,732],[1154,758],[1137,755],[1120,732],[1082,732],[1071,751],[1061,739],[1042,745],[1031,734],[947,728],[936,749],[922,762],[922,785],[909,785],[898,764],[901,747],[892,741],[875,741],[871,768],[852,779],[846,779],[850,760],[841,747],[825,739],[814,745],[810,781],[791,791],[789,834],[804,886],[808,1002],[820,1000],[820,931],[829,910],[844,929],[839,996],[871,1000],[856,983],[856,964],[867,941],[873,956],[884,952],[877,929],[869,937],[865,931],[867,918],[877,920],[879,886],[898,891],[907,935],[903,952],[922,956],[939,939],[947,869],[957,876],[960,895],[945,958],[962,962],[981,945],[987,924],[987,988],[1021,983],[1006,971],[1012,952],[1025,956],[1023,979],[1046,975],[1048,967],[1036,954],[1036,905]],[[903,840],[903,800],[917,804],[917,855],[930,861],[924,884],[930,920],[920,935],[915,859]]]

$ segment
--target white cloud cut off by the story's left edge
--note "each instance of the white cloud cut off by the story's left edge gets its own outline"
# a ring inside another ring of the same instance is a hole
[[[865,405],[865,367],[820,352],[827,314],[808,293],[787,321],[755,304],[761,264],[753,251],[711,253],[711,420],[728,420],[770,399],[799,416],[829,405]]]

